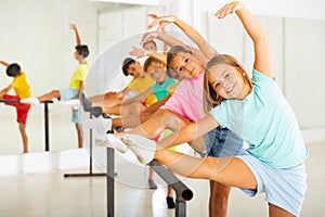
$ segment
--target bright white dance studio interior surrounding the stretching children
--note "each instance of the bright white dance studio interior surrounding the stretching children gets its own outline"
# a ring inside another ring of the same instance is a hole
[[[69,27],[75,24],[81,43],[87,44],[90,51],[87,58],[89,73],[83,81],[86,95],[118,92],[132,80],[132,76],[122,73],[123,59],[134,58],[141,64],[145,62],[145,56],[132,56],[130,51],[142,48],[141,40],[146,33],[159,30],[147,28],[153,22],[150,14],[155,14],[181,18],[216,51],[232,54],[247,72],[251,72],[253,42],[238,16],[229,15],[219,20],[214,15],[229,2],[2,1],[0,61],[21,65],[27,75],[32,97],[67,88],[78,65],[74,56],[76,34]],[[300,216],[322,217],[325,215],[325,2],[242,2],[265,31],[274,78],[296,115],[308,151],[304,162],[308,189]],[[196,47],[176,25],[166,25],[164,31],[187,46]],[[157,52],[165,52],[164,41],[154,40]],[[0,90],[13,80],[5,71],[5,66],[0,65]],[[15,92],[12,89],[8,94]],[[217,216],[209,210],[210,187],[207,179],[180,176],[159,162],[156,167],[134,164],[114,149],[99,145],[95,130],[88,128],[82,128],[83,145],[78,148],[72,107],[57,99],[30,106],[26,123],[28,152],[23,153],[16,111],[5,100],[0,102],[0,216]],[[107,116],[109,114],[93,117],[83,111],[81,120]],[[247,145],[244,142],[244,149]],[[188,143],[178,145],[177,151],[200,157]],[[148,187],[151,167],[157,169],[154,175],[156,189]],[[177,192],[172,196],[176,203],[173,208],[166,203],[168,184]],[[184,192],[190,192],[190,195],[182,194]],[[226,216],[270,216],[265,194],[247,196],[239,188],[232,188]]]

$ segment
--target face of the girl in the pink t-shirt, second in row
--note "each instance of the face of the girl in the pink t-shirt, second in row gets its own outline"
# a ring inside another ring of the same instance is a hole
[[[204,72],[203,65],[187,53],[177,54],[172,59],[170,67],[176,72],[182,74],[185,78],[196,77]]]

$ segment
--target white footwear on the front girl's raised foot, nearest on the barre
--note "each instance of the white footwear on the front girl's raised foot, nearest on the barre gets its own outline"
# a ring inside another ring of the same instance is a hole
[[[154,159],[156,142],[140,135],[125,135],[120,140],[135,154],[141,164]]]

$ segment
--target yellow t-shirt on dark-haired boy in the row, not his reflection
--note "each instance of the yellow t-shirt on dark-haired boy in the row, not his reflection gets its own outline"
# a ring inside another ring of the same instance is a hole
[[[146,75],[143,78],[133,78],[129,85],[128,88],[132,91],[135,91],[139,93],[142,93],[146,91],[148,88],[151,88],[155,84],[155,80],[151,78],[151,76]],[[155,102],[157,102],[157,99],[155,94],[150,94],[145,100],[145,105],[152,105]]]

